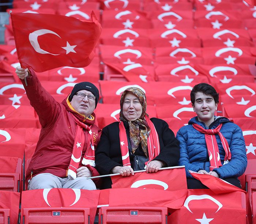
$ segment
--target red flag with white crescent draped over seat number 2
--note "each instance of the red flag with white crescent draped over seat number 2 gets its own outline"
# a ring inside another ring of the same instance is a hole
[[[22,192],[21,215],[23,217],[23,208],[90,208],[90,224],[93,224],[98,200],[99,190],[69,188],[26,190]]]

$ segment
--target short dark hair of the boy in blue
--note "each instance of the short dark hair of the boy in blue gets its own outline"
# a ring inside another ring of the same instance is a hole
[[[217,93],[211,85],[202,82],[195,85],[190,92],[190,100],[192,104],[195,103],[195,95],[197,92],[202,92],[204,95],[210,95],[213,97],[215,103],[219,103],[219,93]]]

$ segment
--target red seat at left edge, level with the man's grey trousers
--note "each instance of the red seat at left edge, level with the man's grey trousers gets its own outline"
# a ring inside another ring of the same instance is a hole
[[[22,186],[22,159],[0,157],[0,166],[3,168],[1,169],[3,173],[0,173],[0,190],[20,192]],[[6,171],[9,168],[11,172]]]

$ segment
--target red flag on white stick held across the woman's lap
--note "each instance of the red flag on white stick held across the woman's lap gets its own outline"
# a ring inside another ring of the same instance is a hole
[[[168,178],[166,178],[168,177]],[[113,188],[153,188],[166,191],[187,189],[185,168],[158,170],[157,173],[135,173],[129,177],[112,176]],[[173,184],[173,183],[176,184]]]

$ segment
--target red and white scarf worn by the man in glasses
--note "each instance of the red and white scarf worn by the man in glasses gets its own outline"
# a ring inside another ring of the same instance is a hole
[[[94,144],[93,144],[93,135],[91,131],[91,125],[84,124],[80,122],[74,115],[73,115],[75,122],[76,122],[76,134],[75,134],[75,141],[73,145],[73,151],[71,155],[71,160],[68,166],[68,178],[75,179],[76,178],[76,170],[79,168],[79,163],[81,161],[83,146],[84,146],[84,132],[83,129],[89,132],[87,138],[87,150],[84,154],[84,158],[82,160],[83,165],[91,165],[95,167],[95,152],[94,152]]]

